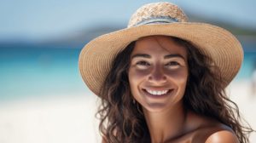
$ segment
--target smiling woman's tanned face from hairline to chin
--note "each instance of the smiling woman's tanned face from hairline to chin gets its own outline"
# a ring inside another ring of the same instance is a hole
[[[144,109],[160,112],[182,104],[189,70],[185,48],[170,37],[143,37],[130,62],[131,94]]]

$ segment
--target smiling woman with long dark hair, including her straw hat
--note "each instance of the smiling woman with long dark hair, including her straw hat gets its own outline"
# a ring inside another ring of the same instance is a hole
[[[137,9],[127,28],[92,40],[79,57],[102,99],[103,142],[248,142],[252,129],[224,93],[242,54],[229,31],[190,23],[172,3]]]

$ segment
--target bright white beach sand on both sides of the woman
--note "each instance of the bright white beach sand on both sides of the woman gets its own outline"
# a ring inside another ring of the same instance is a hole
[[[256,95],[248,82],[232,83],[228,92],[241,113],[256,129]],[[98,134],[96,96],[58,96],[0,103],[1,143],[101,142]],[[256,142],[256,134],[250,137]]]

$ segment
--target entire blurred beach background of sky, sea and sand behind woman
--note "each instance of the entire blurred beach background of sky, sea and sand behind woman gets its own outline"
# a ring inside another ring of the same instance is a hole
[[[224,27],[241,41],[244,62],[227,92],[256,129],[256,1],[166,1],[190,21]],[[100,142],[97,99],[79,75],[79,52],[94,37],[125,28],[150,2],[159,1],[0,1],[0,142]]]

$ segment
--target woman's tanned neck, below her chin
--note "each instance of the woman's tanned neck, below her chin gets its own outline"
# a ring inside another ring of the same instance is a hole
[[[146,109],[143,112],[153,143],[172,140],[185,132],[187,113],[183,105],[163,112],[148,112]]]

